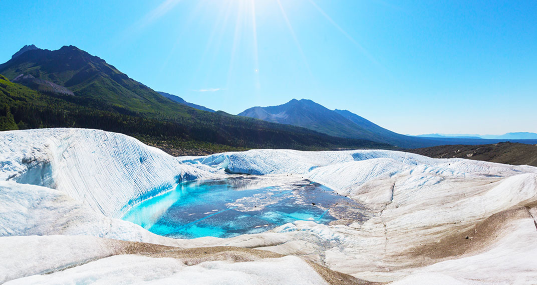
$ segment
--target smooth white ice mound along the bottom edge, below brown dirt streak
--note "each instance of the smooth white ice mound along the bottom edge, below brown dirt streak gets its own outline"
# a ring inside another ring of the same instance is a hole
[[[325,285],[306,261],[293,256],[237,262],[208,261],[185,266],[173,258],[120,255],[89,262],[50,275],[34,275],[14,284],[229,284]]]

